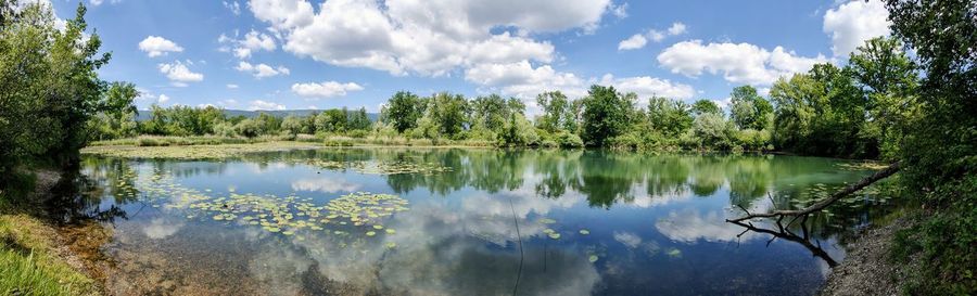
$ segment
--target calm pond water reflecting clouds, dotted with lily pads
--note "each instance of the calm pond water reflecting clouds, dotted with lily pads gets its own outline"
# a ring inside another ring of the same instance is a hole
[[[867,173],[845,165],[402,149],[87,157],[94,190],[71,211],[114,227],[117,294],[811,295],[843,259],[837,233],[885,201],[868,191],[785,231],[724,219]]]

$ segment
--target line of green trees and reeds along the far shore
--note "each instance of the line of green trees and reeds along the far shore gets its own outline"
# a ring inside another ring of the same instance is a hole
[[[440,92],[393,94],[379,120],[364,108],[345,107],[307,116],[228,117],[216,107],[152,106],[150,119],[136,121],[125,105],[138,95],[131,85],[113,85],[114,112],[97,114],[89,126],[98,139],[156,136],[350,136],[481,141],[498,146],[611,147],[637,151],[784,151],[850,158],[897,156],[909,123],[922,116],[917,88],[922,75],[894,38],[875,38],[845,65],[823,63],[782,77],[761,95],[740,86],[721,107],[710,100],[685,103],[592,86],[584,98],[559,91],[535,98],[538,115],[498,94],[473,99]]]

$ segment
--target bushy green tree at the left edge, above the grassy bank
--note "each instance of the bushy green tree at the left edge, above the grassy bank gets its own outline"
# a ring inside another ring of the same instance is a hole
[[[0,2],[0,178],[25,158],[77,165],[106,89],[97,70],[110,60],[99,35],[86,33],[83,4],[63,29],[48,5],[13,5]]]

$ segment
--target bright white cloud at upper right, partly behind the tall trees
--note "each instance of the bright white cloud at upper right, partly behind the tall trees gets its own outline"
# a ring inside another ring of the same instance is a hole
[[[889,35],[889,12],[879,0],[851,1],[824,13],[835,56],[846,56],[865,40]]]

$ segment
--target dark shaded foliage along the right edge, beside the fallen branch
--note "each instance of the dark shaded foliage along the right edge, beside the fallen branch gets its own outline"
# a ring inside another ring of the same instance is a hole
[[[931,210],[900,236],[923,254],[908,294],[973,295],[977,291],[977,2],[887,0],[893,35],[925,73],[913,91],[922,116],[899,141],[909,195]],[[886,87],[902,77],[879,76]],[[902,111],[900,105],[890,110]]]

